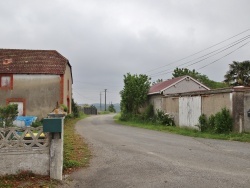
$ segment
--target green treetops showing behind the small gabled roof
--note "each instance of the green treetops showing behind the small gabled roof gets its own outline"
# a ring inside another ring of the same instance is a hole
[[[216,89],[216,88],[225,88],[228,85],[223,82],[215,82],[213,80],[210,80],[207,75],[201,74],[195,69],[189,70],[187,68],[176,68],[173,72],[173,78],[180,77],[180,76],[191,76],[192,78],[198,80],[200,83],[204,84],[205,86],[211,88],[211,89]]]

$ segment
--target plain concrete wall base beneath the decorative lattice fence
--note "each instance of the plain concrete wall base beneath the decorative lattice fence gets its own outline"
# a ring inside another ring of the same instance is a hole
[[[1,152],[0,150],[0,174],[16,174],[20,170],[30,170],[35,174],[49,175],[49,159],[49,148],[28,152],[26,150]]]

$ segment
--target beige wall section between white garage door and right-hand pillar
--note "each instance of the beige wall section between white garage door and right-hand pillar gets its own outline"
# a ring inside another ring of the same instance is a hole
[[[207,117],[227,108],[232,112],[232,93],[217,93],[202,96],[202,113]]]

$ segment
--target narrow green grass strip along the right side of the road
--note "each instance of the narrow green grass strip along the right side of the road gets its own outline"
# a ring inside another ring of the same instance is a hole
[[[132,127],[140,127],[144,129],[180,134],[180,135],[191,136],[191,137],[250,142],[249,133],[229,133],[229,134],[206,133],[206,132],[200,132],[199,130],[191,129],[187,127],[181,128],[178,126],[176,127],[176,126],[155,125],[155,124],[150,124],[150,123],[142,123],[139,121],[121,121],[119,120],[119,117],[120,117],[120,114],[114,117],[116,123],[132,126]]]

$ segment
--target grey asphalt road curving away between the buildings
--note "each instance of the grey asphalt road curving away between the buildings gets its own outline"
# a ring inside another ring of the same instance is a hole
[[[250,144],[191,138],[117,125],[112,115],[81,120],[76,130],[89,143],[88,168],[69,187],[250,188]]]

